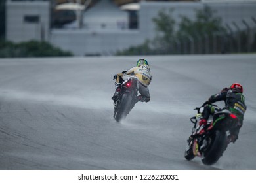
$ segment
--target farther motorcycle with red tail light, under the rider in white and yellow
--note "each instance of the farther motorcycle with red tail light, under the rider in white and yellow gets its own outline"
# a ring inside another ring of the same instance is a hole
[[[121,84],[120,95],[114,105],[114,119],[117,122],[125,119],[127,114],[138,102],[137,94],[139,88],[139,81],[137,77],[130,76],[128,80],[125,80]]]

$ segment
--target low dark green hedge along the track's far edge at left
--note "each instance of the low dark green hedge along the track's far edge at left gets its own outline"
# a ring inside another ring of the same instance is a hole
[[[48,42],[28,41],[13,43],[0,41],[0,58],[6,57],[54,57],[73,56],[71,52],[60,50]]]

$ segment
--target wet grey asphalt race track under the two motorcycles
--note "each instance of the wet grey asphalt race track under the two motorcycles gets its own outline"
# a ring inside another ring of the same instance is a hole
[[[112,76],[139,58],[151,101],[117,123]],[[256,54],[0,59],[0,169],[256,169],[255,78]],[[232,82],[247,104],[238,141],[215,165],[186,161],[193,108]]]

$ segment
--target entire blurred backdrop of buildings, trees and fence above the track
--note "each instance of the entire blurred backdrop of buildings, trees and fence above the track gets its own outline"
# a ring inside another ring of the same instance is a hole
[[[255,0],[1,0],[0,57],[256,51]]]

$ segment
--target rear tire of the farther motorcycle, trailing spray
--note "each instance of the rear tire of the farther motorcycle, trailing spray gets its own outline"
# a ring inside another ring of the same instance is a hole
[[[117,122],[125,119],[127,114],[129,113],[131,106],[131,95],[129,93],[124,93],[121,96],[120,102],[116,108],[116,112],[114,113],[114,119]]]

